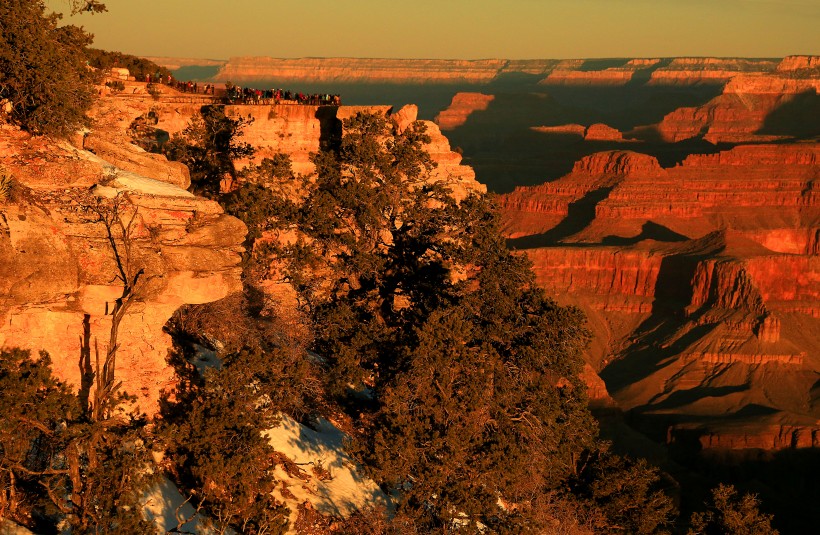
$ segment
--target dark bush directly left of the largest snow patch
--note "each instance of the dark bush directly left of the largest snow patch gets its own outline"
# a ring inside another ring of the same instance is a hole
[[[181,385],[177,401],[163,408],[159,432],[180,488],[220,531],[287,528],[287,509],[271,495],[276,457],[262,435],[289,401],[279,388],[288,381],[284,370],[270,365],[276,357],[261,350],[231,355],[201,386]]]

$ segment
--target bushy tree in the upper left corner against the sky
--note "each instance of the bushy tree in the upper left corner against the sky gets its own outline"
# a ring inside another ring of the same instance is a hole
[[[15,123],[35,134],[71,134],[87,123],[93,102],[85,64],[91,37],[76,26],[58,27],[59,20],[42,0],[0,4],[0,100],[11,103]]]

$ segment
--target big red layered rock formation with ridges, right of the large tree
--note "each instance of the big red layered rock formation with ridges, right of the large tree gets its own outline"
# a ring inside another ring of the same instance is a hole
[[[539,283],[587,312],[589,361],[636,425],[699,448],[805,447],[820,432],[818,178],[817,143],[667,168],[609,151],[502,207]]]

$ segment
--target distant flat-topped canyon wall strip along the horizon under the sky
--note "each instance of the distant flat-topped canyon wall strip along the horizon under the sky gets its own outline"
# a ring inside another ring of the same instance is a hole
[[[794,59],[797,58],[797,59]],[[790,71],[815,68],[805,56],[789,58]],[[232,57],[227,61],[148,58],[169,69],[218,67],[215,81],[249,83],[488,84],[509,76],[539,77],[544,85],[625,85],[630,82],[686,86],[723,84],[742,73],[778,69],[774,59],[624,58],[611,60],[440,60],[384,58]]]

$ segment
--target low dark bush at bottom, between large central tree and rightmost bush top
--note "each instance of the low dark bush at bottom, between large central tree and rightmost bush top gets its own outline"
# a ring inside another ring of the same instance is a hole
[[[584,456],[569,491],[577,506],[596,519],[596,533],[665,533],[674,513],[657,468],[604,447]]]

